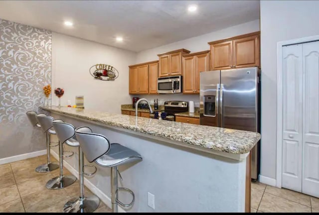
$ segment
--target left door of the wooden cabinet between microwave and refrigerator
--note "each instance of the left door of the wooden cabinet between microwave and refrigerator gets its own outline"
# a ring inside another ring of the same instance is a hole
[[[194,56],[183,58],[183,93],[194,93]]]

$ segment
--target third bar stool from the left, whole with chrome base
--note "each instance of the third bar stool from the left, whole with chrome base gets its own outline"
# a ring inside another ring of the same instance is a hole
[[[75,127],[71,124],[65,123],[60,119],[53,120],[53,127],[56,131],[60,142],[69,146],[78,147],[79,149],[79,181],[80,181],[80,197],[72,198],[63,207],[62,212],[86,212],[91,213],[95,211],[100,204],[100,199],[95,195],[84,196],[84,175],[93,175],[97,168],[93,165],[84,165],[83,152],[79,142],[75,137]],[[90,166],[95,168],[93,173],[85,173],[84,167]]]

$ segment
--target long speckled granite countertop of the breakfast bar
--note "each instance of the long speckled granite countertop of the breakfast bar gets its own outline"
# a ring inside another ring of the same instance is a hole
[[[231,154],[248,153],[260,139],[259,133],[251,131],[195,125],[80,108],[58,108],[55,106],[40,108],[80,119],[175,140],[183,144],[192,144],[204,147],[205,149]]]

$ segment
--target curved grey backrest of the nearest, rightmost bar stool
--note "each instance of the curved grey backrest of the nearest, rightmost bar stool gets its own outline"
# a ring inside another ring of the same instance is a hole
[[[110,150],[110,141],[101,134],[92,133],[89,127],[76,128],[75,136],[90,163]]]

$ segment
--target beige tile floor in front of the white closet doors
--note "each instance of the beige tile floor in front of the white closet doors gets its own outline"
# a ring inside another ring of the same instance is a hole
[[[256,182],[251,185],[251,212],[318,213],[319,199]]]

